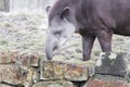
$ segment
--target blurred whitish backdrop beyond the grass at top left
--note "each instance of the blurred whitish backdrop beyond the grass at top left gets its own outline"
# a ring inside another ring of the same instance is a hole
[[[0,11],[11,13],[42,13],[55,0],[0,0]]]

